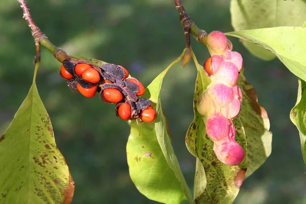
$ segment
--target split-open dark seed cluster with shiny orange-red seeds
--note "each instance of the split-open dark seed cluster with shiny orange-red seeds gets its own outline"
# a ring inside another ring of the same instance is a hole
[[[144,86],[122,66],[104,64],[96,66],[85,60],[66,60],[61,66],[60,75],[70,88],[78,90],[86,97],[99,92],[105,103],[115,103],[116,115],[123,120],[140,118],[152,122],[156,118],[152,101],[137,97],[144,94]]]

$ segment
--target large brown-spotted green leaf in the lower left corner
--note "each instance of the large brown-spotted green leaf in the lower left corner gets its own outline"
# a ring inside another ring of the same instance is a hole
[[[72,201],[74,182],[56,146],[35,75],[28,96],[0,137],[0,203]]]

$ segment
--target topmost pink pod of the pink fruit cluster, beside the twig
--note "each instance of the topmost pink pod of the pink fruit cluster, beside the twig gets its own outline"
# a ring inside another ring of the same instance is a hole
[[[227,38],[220,31],[213,31],[207,37],[207,47],[211,56],[222,55],[227,47]]]

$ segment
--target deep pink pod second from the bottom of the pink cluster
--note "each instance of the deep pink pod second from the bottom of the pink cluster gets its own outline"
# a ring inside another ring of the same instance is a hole
[[[228,136],[230,121],[221,114],[213,115],[206,121],[206,133],[214,141],[220,141]]]

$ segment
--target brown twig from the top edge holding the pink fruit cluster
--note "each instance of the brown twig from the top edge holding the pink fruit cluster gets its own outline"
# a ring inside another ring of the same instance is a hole
[[[195,23],[191,20],[190,16],[187,14],[181,0],[174,0],[175,7],[179,11],[180,20],[184,28],[184,34],[186,38],[186,47],[190,47],[190,33],[192,36],[202,44],[207,44],[207,33],[204,30],[199,29]]]

